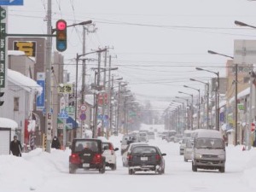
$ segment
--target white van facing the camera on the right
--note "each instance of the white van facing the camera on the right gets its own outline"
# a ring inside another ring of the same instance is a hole
[[[192,150],[192,171],[200,169],[218,169],[225,172],[225,143],[219,131],[196,130]]]

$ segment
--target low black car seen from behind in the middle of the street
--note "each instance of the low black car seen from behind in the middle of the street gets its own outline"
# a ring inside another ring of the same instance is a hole
[[[165,160],[158,147],[136,146],[128,155],[128,171],[132,175],[138,171],[154,171],[158,174],[165,173]]]

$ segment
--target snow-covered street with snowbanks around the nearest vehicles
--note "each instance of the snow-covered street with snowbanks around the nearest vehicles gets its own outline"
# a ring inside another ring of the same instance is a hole
[[[120,136],[111,137],[114,147],[120,148]],[[68,173],[68,155],[52,149],[51,154],[40,148],[23,157],[12,155],[0,156],[0,191],[38,192],[51,191],[253,191],[256,189],[256,148],[242,151],[242,146],[227,148],[226,172],[198,170],[192,172],[191,161],[184,162],[179,155],[178,143],[166,143],[160,138],[150,144],[160,147],[166,153],[166,173],[137,172],[128,175],[128,168],[122,166],[119,151],[116,171],[109,168],[104,174],[97,171],[79,170],[76,174]]]

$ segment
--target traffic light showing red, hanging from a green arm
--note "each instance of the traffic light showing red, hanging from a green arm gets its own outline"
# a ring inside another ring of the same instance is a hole
[[[67,49],[66,20],[57,20],[56,22],[56,49],[61,52]]]

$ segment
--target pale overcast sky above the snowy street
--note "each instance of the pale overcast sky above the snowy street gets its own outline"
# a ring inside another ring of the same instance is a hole
[[[45,33],[47,2],[24,0],[24,6],[10,6],[9,33]],[[119,70],[114,73],[129,82],[138,100],[154,103],[184,96],[178,90],[197,93],[183,84],[204,90],[203,84],[189,78],[207,82],[215,76],[195,67],[219,71],[224,77],[228,59],[207,50],[233,56],[234,39],[256,37],[255,29],[234,24],[240,20],[256,26],[256,1],[52,0],[52,9],[53,27],[59,19],[67,20],[67,25],[93,20],[97,31],[86,36],[86,51],[109,46],[109,53],[117,55],[113,67]],[[72,73],[77,53],[82,53],[82,26],[68,28],[68,49],[62,53]],[[90,67],[93,63],[88,73]],[[91,83],[93,75],[87,80]]]

